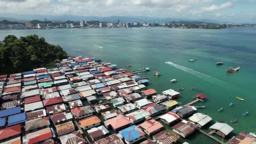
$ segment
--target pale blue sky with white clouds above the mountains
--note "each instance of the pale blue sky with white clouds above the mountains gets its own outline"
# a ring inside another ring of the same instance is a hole
[[[255,8],[256,0],[0,0],[0,16],[69,14],[255,22]]]

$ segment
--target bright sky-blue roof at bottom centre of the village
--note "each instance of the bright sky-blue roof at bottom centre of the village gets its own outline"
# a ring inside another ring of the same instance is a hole
[[[119,133],[126,139],[126,141],[133,141],[134,139],[145,135],[145,133],[141,131],[141,129],[138,128],[136,125],[125,128]]]

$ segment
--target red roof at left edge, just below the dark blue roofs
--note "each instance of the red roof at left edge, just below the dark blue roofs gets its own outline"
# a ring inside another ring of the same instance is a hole
[[[0,130],[0,140],[15,136],[21,133],[21,125],[14,125]]]

